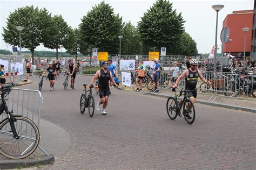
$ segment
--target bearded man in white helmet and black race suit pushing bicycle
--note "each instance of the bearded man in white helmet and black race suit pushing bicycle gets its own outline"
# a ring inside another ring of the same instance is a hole
[[[188,91],[188,97],[190,97],[191,102],[194,104],[196,103],[197,98],[197,80],[198,77],[203,81],[204,83],[210,84],[210,81],[207,81],[200,70],[197,69],[198,61],[196,59],[192,59],[190,61],[190,68],[184,70],[184,72],[178,77],[176,83],[172,86],[172,88],[176,88],[180,82],[181,79],[185,77],[185,90],[194,90],[194,91]],[[186,114],[186,117],[191,118],[188,114]]]

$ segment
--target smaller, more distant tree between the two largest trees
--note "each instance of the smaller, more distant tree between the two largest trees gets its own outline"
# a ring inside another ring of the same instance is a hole
[[[131,22],[125,23],[122,36],[122,55],[140,54],[139,32]]]

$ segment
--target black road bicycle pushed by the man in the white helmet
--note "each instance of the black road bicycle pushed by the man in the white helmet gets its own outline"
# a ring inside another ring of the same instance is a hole
[[[173,91],[175,89],[172,89]],[[183,109],[183,115],[188,124],[192,124],[196,118],[196,111],[191,100],[188,99],[188,91],[194,90],[180,90],[179,94],[176,93],[174,97],[169,97],[166,102],[166,110],[168,116],[174,120],[177,116],[181,116],[181,109]],[[181,101],[178,101],[177,97],[180,97],[184,93],[184,98]]]

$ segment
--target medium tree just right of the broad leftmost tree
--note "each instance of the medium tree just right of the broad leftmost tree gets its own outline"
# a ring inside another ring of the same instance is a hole
[[[48,35],[43,40],[44,47],[56,49],[56,59],[58,59],[58,49],[65,46],[65,41],[72,31],[61,15],[51,18],[51,28]]]

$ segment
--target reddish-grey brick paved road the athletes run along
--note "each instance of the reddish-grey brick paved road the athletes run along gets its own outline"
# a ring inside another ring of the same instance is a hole
[[[255,114],[196,104],[196,121],[188,125],[167,116],[165,98],[113,89],[109,114],[96,110],[90,118],[78,108],[82,84],[90,79],[77,76],[76,89],[67,91],[63,77],[54,91],[44,84],[42,117],[71,138],[62,157],[45,169],[256,167]],[[37,83],[26,88],[37,89]]]

